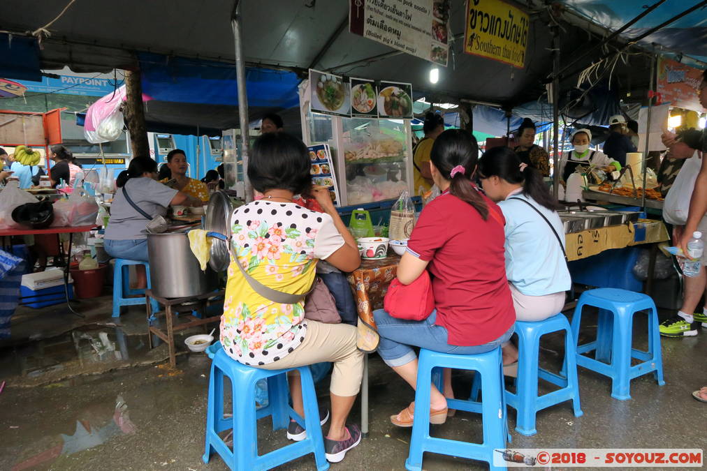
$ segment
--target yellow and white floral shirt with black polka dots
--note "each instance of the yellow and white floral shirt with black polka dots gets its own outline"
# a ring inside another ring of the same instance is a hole
[[[254,201],[236,208],[230,225],[232,256],[221,343],[241,363],[276,362],[305,338],[304,302],[279,304],[260,296],[235,263],[274,290],[304,294],[314,281],[317,261],[337,251],[344,238],[331,216],[296,203]]]

